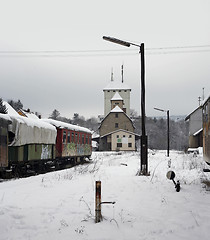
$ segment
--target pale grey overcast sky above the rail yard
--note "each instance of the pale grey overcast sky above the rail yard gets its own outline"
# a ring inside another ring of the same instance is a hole
[[[145,44],[148,116],[187,115],[210,93],[209,12],[209,0],[0,0],[0,96],[44,117],[98,116],[124,64],[139,112],[139,49],[105,35]]]

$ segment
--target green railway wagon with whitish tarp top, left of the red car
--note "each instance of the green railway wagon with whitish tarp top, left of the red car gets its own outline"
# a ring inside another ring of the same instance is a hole
[[[10,171],[15,176],[46,171],[47,163],[55,159],[56,128],[39,119],[5,116],[9,122],[4,121],[3,131],[1,127],[4,136],[1,137],[1,149],[4,148],[4,157],[0,159],[1,175]]]

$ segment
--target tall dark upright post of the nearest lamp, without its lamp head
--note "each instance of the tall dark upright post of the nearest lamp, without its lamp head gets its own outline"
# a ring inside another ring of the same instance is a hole
[[[145,130],[145,62],[144,62],[144,43],[140,46],[141,54],[141,174],[148,175],[148,151],[147,136]]]

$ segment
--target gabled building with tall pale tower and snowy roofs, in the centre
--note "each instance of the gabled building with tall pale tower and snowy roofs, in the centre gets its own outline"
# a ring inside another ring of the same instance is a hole
[[[111,82],[103,89],[104,118],[99,126],[100,151],[134,151],[136,140],[135,127],[130,119],[131,89],[122,82]]]

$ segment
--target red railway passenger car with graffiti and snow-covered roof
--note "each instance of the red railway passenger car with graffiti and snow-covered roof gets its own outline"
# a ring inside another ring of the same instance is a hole
[[[59,164],[77,164],[92,154],[92,133],[89,129],[53,119],[42,119],[57,129],[56,158]]]

